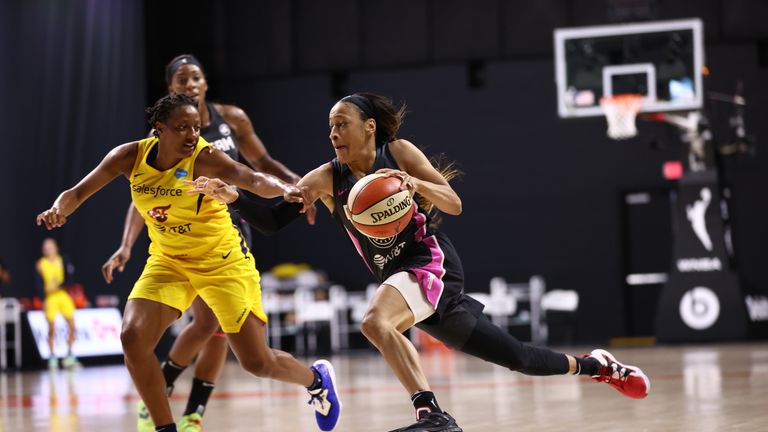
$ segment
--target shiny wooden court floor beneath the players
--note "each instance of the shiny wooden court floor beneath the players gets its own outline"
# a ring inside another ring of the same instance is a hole
[[[575,349],[581,353],[585,349]],[[425,354],[440,404],[465,431],[768,431],[768,343],[612,349],[643,368],[651,394],[624,398],[586,378],[526,377],[453,353]],[[408,395],[380,357],[338,356],[338,431],[388,431],[412,421]],[[172,408],[186,403],[179,378]],[[314,431],[306,393],[227,364],[207,431]],[[0,374],[0,431],[134,431],[136,392],[122,366]]]

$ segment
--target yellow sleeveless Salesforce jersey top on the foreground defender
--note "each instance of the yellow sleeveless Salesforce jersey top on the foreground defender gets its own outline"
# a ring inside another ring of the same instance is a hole
[[[136,162],[131,170],[131,199],[144,218],[152,243],[151,255],[196,258],[220,244],[241,244],[232,225],[227,205],[206,197],[189,195],[184,180],[194,180],[197,155],[210,147],[202,137],[192,156],[174,167],[159,171],[147,163],[147,155],[158,144],[157,137],[139,141]]]

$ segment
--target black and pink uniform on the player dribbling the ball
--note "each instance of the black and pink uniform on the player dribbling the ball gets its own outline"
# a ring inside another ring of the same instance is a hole
[[[373,239],[360,233],[344,214],[344,205],[357,178],[349,167],[337,159],[333,166],[333,217],[347,231],[357,252],[379,283],[391,275],[408,271],[416,276],[425,298],[442,312],[460,294],[464,285],[464,271],[456,250],[448,237],[432,228],[429,215],[422,209],[414,214],[400,234],[386,239]],[[389,151],[389,144],[376,149],[373,167],[366,174],[381,168],[399,169]],[[418,195],[414,204],[418,204]]]

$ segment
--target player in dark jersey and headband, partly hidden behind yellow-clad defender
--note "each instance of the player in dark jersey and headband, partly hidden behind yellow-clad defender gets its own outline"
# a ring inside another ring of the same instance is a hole
[[[183,93],[197,102],[200,112],[200,136],[213,148],[221,150],[232,160],[245,159],[256,171],[272,174],[288,183],[296,183],[301,177],[273,159],[264,143],[253,130],[248,115],[239,107],[212,103],[206,100],[208,81],[202,64],[190,54],[174,57],[165,68],[165,82],[168,93]],[[236,211],[230,209],[232,222],[237,225],[251,246],[251,231]],[[307,220],[314,223],[315,207],[307,213]],[[123,271],[130,260],[131,249],[144,229],[144,220],[133,204],[128,209],[120,247],[102,266],[102,273],[107,283],[111,283],[114,270]],[[173,346],[165,361],[162,362],[163,376],[166,381],[166,393],[173,393],[174,383],[179,375],[197,356],[192,388],[187,406],[184,409],[179,430],[197,432],[202,430],[202,416],[227,358],[227,342],[219,329],[216,316],[205,302],[197,297],[190,309],[194,319],[173,341]],[[155,429],[152,419],[143,401],[138,403],[138,432],[151,432]]]

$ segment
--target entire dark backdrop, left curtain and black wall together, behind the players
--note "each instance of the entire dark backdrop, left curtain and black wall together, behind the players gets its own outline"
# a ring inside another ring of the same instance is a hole
[[[444,227],[464,260],[467,289],[487,290],[493,276],[542,274],[552,288],[580,292],[577,339],[626,334],[621,196],[674,187],[661,166],[680,158],[680,147],[660,125],[640,122],[638,138],[617,143],[605,137],[604,119],[557,118],[552,29],[701,16],[707,88],[728,92],[743,80],[747,124],[764,140],[768,9],[756,0],[668,0],[653,16],[628,16],[631,8],[609,7],[625,2],[384,3],[0,2],[0,54],[12,60],[0,62],[0,257],[14,275],[11,294],[31,292],[47,235],[35,215],[109,149],[146,133],[142,108],[164,92],[164,65],[191,52],[206,66],[209,99],[244,108],[270,153],[299,173],[332,157],[327,114],[338,97],[373,90],[406,100],[401,135],[466,172],[455,184],[464,214],[446,217]],[[755,12],[721,13],[736,4]],[[745,288],[764,291],[768,153],[725,165],[739,275]],[[126,186],[118,179],[55,233],[91,294],[124,299],[146,257],[142,236],[126,274],[111,287],[101,281],[100,265],[120,241]],[[345,238],[322,214],[317,227],[294,223],[254,249],[261,269],[303,261],[363,289],[371,276]]]

